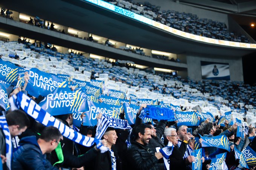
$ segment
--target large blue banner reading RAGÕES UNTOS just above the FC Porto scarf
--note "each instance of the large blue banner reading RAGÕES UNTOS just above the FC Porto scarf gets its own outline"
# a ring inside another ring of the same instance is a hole
[[[52,116],[88,111],[86,95],[82,90],[57,87],[38,104]]]

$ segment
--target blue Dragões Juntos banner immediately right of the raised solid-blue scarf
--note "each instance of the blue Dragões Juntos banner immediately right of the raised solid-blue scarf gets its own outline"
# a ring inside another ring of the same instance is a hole
[[[193,111],[175,111],[177,126],[199,126],[198,114]]]

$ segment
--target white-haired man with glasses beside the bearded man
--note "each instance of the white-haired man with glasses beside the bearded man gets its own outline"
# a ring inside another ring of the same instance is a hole
[[[179,136],[174,128],[166,128],[164,130],[164,135],[167,140],[173,144],[172,155],[170,155],[170,169],[186,169],[186,162],[183,159],[185,151],[187,150],[187,143],[193,135],[186,133],[183,136],[180,146],[178,146]],[[195,161],[195,157],[192,158],[192,161]]]

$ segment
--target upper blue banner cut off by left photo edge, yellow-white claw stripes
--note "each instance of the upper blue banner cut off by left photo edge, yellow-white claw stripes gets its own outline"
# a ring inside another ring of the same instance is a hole
[[[18,82],[18,76],[20,75],[20,78],[22,78],[24,76],[24,72],[25,69],[15,66],[12,63],[0,60],[0,80],[3,80],[6,83],[10,83],[16,86]],[[22,86],[24,85],[24,78],[20,81],[20,83]]]

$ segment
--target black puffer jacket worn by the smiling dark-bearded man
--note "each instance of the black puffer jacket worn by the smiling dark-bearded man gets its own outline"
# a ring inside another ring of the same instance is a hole
[[[127,169],[132,170],[158,170],[158,159],[155,152],[149,147],[136,141],[127,150]]]

